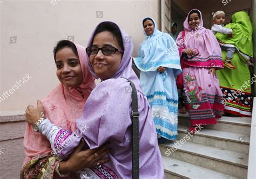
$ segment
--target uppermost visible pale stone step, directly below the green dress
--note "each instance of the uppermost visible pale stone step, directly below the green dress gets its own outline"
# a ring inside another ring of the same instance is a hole
[[[223,116],[221,119],[217,119],[217,120],[218,120],[218,124],[205,125],[205,128],[210,128],[217,131],[226,131],[226,132],[250,135],[252,118],[247,118],[247,117],[232,118],[232,117]],[[178,123],[180,125],[190,126],[190,119],[189,119],[188,113],[179,114]]]

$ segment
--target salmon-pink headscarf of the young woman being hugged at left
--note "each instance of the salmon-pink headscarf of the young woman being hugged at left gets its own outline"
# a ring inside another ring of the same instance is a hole
[[[71,131],[76,130],[76,119],[82,115],[86,99],[95,88],[95,78],[87,66],[85,47],[78,44],[75,46],[83,71],[83,82],[76,88],[68,88],[60,83],[42,100],[45,117],[49,118],[53,124]],[[82,94],[79,91],[82,91]],[[26,155],[24,164],[32,157],[52,150],[49,140],[43,134],[33,131],[30,124],[26,128],[23,144]]]

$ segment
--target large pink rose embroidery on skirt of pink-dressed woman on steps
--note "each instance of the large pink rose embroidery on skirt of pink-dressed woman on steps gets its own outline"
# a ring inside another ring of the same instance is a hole
[[[185,73],[184,75],[184,91],[187,95],[187,101],[191,104],[191,108],[198,109],[200,104],[194,104],[195,101],[202,101],[203,89],[198,87],[196,75]]]

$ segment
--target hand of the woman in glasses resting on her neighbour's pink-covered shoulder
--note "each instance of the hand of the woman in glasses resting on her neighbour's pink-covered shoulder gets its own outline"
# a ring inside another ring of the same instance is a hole
[[[37,108],[32,105],[26,107],[26,121],[30,124],[35,124],[40,118],[44,117],[44,106],[41,101],[37,101]]]

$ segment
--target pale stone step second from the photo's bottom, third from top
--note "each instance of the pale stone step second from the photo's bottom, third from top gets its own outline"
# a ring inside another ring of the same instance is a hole
[[[247,177],[248,155],[192,142],[160,144],[162,157],[188,162],[237,178]]]

